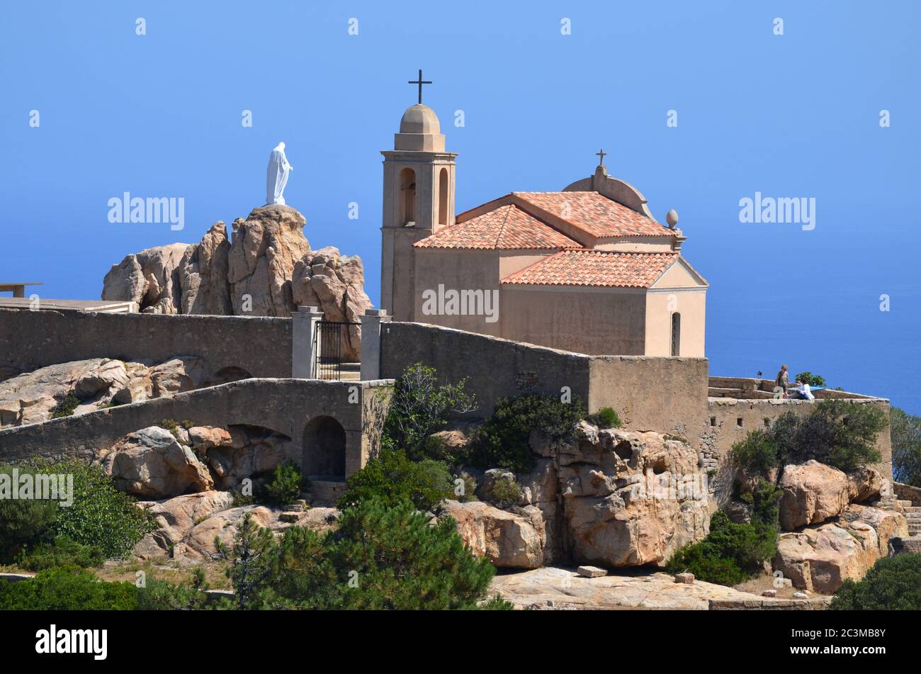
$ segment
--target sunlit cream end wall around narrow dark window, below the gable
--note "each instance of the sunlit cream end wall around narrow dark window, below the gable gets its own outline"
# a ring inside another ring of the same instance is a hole
[[[671,314],[676,311],[682,316],[679,355],[703,358],[706,331],[704,288],[657,287],[647,293],[645,353],[671,355]]]

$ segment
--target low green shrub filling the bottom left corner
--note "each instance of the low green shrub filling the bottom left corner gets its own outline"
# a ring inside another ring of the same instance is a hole
[[[0,610],[135,610],[131,583],[107,583],[74,566],[40,571],[29,580],[0,582]]]

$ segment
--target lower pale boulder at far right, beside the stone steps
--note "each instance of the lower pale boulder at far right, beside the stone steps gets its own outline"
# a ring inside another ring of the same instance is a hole
[[[834,521],[781,534],[774,569],[794,587],[832,594],[846,579],[862,578],[888,554],[891,539],[907,534],[907,519],[900,512],[845,506]]]

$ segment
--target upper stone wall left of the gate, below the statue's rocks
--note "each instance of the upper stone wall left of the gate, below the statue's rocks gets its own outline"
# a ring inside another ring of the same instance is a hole
[[[227,367],[251,377],[291,376],[291,320],[0,309],[0,368],[30,371],[86,358],[197,355],[207,378]]]

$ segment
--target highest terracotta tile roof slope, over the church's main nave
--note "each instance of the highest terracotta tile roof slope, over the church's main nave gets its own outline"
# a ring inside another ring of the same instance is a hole
[[[670,237],[668,227],[599,192],[512,192],[594,237]]]

